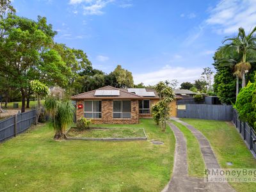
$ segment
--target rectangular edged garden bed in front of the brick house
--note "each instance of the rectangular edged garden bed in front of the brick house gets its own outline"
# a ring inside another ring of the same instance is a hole
[[[90,129],[77,129],[71,127],[67,131],[68,140],[92,140],[92,141],[131,141],[147,140],[144,128],[141,127],[90,127]]]

